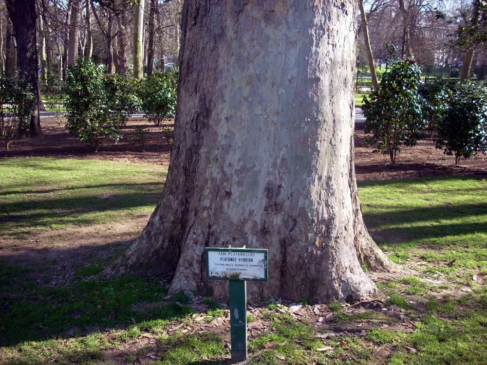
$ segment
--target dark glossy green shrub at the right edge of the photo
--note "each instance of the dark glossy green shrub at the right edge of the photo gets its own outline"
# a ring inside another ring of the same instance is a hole
[[[487,88],[480,83],[453,87],[445,117],[438,124],[436,148],[460,159],[487,152]]]

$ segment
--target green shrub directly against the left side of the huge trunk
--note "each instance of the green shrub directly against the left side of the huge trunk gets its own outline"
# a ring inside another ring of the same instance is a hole
[[[156,72],[141,81],[140,97],[145,116],[156,126],[176,112],[177,69]]]

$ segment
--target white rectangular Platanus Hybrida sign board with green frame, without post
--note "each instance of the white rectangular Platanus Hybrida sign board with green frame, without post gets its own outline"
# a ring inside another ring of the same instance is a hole
[[[267,281],[267,250],[206,248],[206,277]]]

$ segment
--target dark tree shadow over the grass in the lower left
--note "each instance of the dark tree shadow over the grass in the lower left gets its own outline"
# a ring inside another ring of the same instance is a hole
[[[51,251],[55,251],[50,252],[54,257],[78,258],[80,262],[93,259],[95,263],[79,269],[79,275],[66,273],[65,266],[59,265],[60,281],[50,286],[36,280],[41,276],[36,267],[21,268],[0,261],[0,346],[125,329],[192,313],[185,305],[163,300],[167,288],[161,277],[94,279],[93,275],[112,262],[113,252],[99,247],[92,248],[91,256],[83,247]],[[96,261],[100,256],[105,259]],[[15,261],[15,257],[9,261]]]

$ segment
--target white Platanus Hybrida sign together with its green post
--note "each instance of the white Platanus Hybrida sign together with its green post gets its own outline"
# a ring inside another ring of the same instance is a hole
[[[247,360],[246,281],[267,281],[267,250],[205,248],[206,278],[229,280],[232,361]]]

